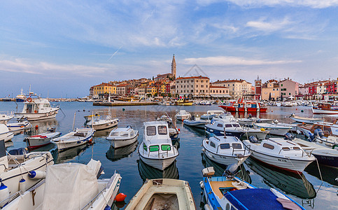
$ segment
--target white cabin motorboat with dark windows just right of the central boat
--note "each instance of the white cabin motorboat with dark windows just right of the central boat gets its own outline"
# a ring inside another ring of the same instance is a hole
[[[237,137],[211,137],[202,142],[208,158],[223,165],[241,165],[250,153]]]

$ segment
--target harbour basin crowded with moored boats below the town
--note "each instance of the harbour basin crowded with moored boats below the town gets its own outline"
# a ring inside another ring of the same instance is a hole
[[[76,103],[61,104],[53,118],[40,120],[11,113],[7,104],[0,110],[6,112],[0,124],[3,209],[337,206],[336,200],[323,204],[320,196],[324,187],[335,195],[332,185],[338,186],[335,117],[293,107],[234,114],[218,105],[163,110]],[[10,130],[10,123],[22,123],[20,130]],[[17,175],[4,179],[13,176],[5,173]],[[318,173],[325,176],[310,175]]]

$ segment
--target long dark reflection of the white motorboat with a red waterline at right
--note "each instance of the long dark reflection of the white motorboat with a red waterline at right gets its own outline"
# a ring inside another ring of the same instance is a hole
[[[304,174],[295,174],[286,170],[276,169],[262,162],[257,162],[253,158],[246,160],[246,165],[255,173],[263,177],[268,186],[273,185],[285,193],[295,195],[302,199],[312,199],[316,197],[314,186],[307,180]]]

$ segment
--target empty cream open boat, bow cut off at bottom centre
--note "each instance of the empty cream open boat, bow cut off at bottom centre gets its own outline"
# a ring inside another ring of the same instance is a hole
[[[188,181],[177,179],[146,180],[130,200],[126,210],[196,209]]]

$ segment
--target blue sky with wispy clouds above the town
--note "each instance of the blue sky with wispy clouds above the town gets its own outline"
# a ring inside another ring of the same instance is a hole
[[[338,77],[337,0],[2,1],[0,97],[84,97],[110,80],[177,74]],[[190,71],[190,73],[193,71]]]

